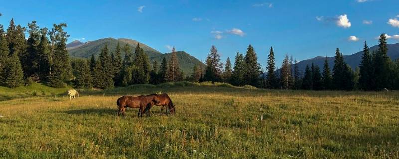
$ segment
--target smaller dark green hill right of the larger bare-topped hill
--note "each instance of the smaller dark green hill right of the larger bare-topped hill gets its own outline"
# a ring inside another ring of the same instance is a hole
[[[177,51],[176,53],[179,60],[180,69],[182,69],[186,75],[191,75],[193,73],[194,65],[199,64],[201,61],[184,51]],[[171,56],[172,53],[161,54],[160,56],[150,58],[150,62],[152,64],[154,60],[156,60],[158,65],[160,65],[164,57],[166,60],[170,60]]]

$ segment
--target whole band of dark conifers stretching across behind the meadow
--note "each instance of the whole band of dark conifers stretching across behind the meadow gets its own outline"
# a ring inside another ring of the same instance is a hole
[[[248,46],[245,55],[237,51],[234,67],[229,57],[223,64],[217,48],[212,46],[205,64],[195,64],[192,75],[185,76],[179,67],[175,47],[170,59],[163,58],[160,64],[153,61],[152,65],[139,44],[134,50],[128,44],[121,46],[118,43],[111,49],[105,45],[97,58],[92,55],[88,59],[72,59],[66,50],[69,35],[64,31],[65,27],[67,25],[61,23],[54,24],[51,29],[39,28],[36,21],[32,21],[26,28],[16,26],[14,19],[6,31],[0,25],[0,84],[14,88],[32,82],[52,87],[64,87],[68,83],[77,88],[106,89],[186,80],[269,89],[399,89],[399,60],[394,62],[387,56],[385,34],[380,36],[377,51],[370,52],[365,42],[361,64],[355,70],[345,63],[338,48],[332,69],[326,57],[322,70],[311,64],[301,72],[298,62],[288,54],[277,70],[271,47],[264,72],[252,45]]]

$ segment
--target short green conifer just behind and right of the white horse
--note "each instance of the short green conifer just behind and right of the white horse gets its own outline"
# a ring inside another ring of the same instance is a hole
[[[90,74],[89,60],[77,60],[75,86],[77,88],[91,88],[92,78]]]

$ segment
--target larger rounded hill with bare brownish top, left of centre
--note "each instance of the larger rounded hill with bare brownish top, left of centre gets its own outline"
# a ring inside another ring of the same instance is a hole
[[[101,49],[108,45],[110,50],[115,50],[118,42],[120,43],[121,47],[123,47],[126,43],[129,45],[130,49],[133,51],[137,46],[137,41],[129,40],[129,39],[114,39],[114,38],[104,38],[98,39],[95,41],[89,41],[74,47],[68,47],[69,55],[72,57],[82,57],[88,58],[94,54],[94,56],[98,56],[101,52]],[[69,43],[68,45],[70,45]],[[149,58],[154,56],[159,56],[161,53],[143,43],[140,43],[140,47],[143,48],[144,52],[147,54]]]

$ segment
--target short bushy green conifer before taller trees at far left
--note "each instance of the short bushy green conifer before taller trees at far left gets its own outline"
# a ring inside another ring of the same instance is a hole
[[[22,65],[17,54],[11,55],[4,69],[3,83],[10,87],[19,87],[23,83]]]

